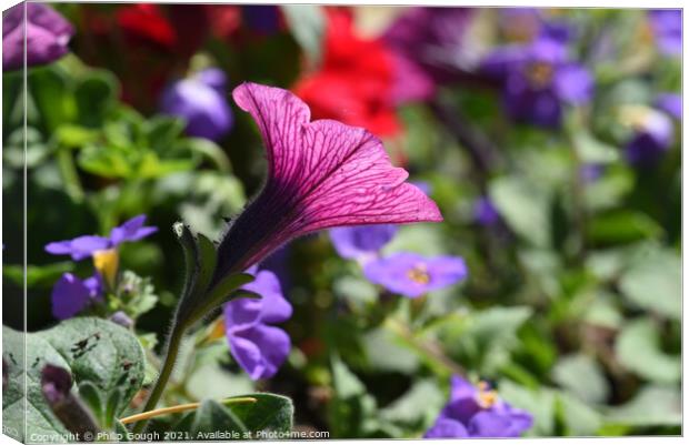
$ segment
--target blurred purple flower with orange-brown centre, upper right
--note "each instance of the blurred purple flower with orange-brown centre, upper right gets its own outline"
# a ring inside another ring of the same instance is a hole
[[[565,104],[587,103],[593,79],[569,59],[565,39],[545,32],[525,45],[502,47],[481,63],[481,71],[501,83],[510,117],[545,128],[557,128]]]

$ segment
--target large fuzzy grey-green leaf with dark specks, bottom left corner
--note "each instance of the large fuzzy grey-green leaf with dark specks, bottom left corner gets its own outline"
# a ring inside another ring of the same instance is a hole
[[[9,372],[9,383],[2,400],[2,418],[4,425],[19,432],[23,431],[24,419],[24,352],[28,365],[26,421],[31,433],[67,433],[41,392],[40,373],[48,363],[71,371],[77,386],[83,386],[84,400],[96,404],[91,409],[100,414],[103,425],[112,422],[112,418],[104,418],[108,408],[103,403],[108,403],[119,392],[119,401],[111,404],[109,411],[120,414],[141,387],[141,345],[129,331],[114,323],[76,317],[36,333],[23,334],[6,326],[2,330],[2,356]]]

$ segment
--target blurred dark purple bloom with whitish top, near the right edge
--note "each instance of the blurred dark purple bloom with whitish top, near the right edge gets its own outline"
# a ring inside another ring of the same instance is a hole
[[[651,166],[672,144],[672,121],[667,114],[648,109],[636,127],[625,148],[627,160],[632,165]]]

